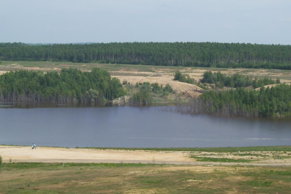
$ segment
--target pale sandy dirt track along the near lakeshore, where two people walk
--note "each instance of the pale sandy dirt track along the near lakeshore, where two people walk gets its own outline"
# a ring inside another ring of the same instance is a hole
[[[183,151],[129,151],[38,147],[0,146],[0,155],[4,162],[11,158],[15,162],[73,162],[73,163],[166,163],[191,165],[237,165],[238,163],[197,162],[189,158],[190,152]],[[255,166],[289,166],[291,163],[240,163]]]

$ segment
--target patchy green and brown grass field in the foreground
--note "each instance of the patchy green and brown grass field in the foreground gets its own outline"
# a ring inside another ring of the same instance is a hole
[[[289,167],[123,163],[0,165],[0,193],[290,193],[290,183]]]

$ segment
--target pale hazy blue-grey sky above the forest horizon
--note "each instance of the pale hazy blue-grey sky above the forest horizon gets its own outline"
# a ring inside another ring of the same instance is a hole
[[[0,1],[0,42],[291,44],[291,0]]]

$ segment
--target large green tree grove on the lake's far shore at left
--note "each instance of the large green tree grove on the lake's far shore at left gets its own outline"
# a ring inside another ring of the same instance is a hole
[[[122,96],[125,91],[117,78],[106,70],[77,69],[42,71],[19,70],[0,75],[0,101],[101,102]]]

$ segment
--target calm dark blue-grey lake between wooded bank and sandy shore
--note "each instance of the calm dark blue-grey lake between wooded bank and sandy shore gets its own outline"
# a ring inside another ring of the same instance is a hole
[[[0,104],[0,144],[60,147],[291,145],[291,120],[187,115],[175,107],[15,108]]]

